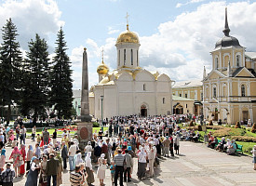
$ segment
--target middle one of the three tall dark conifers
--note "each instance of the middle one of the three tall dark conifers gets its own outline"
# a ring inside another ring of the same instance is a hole
[[[35,40],[29,42],[27,52],[27,77],[23,90],[23,112],[33,114],[33,122],[41,117],[46,117],[46,108],[49,104],[49,58],[47,42],[36,33]]]

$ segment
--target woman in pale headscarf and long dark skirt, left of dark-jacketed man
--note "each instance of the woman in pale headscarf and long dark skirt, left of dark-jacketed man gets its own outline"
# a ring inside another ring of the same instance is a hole
[[[40,167],[36,166],[36,160],[37,157],[35,156],[31,159],[31,167],[25,186],[37,186],[38,170]]]

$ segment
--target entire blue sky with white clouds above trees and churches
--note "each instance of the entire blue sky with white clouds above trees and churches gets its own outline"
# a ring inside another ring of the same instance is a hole
[[[7,0],[0,1],[0,27],[11,17],[18,27],[22,51],[39,33],[49,52],[63,26],[74,70],[74,88],[81,86],[83,47],[88,48],[89,85],[98,81],[97,66],[116,67],[115,40],[129,28],[139,34],[141,67],[167,73],[172,80],[202,77],[211,69],[209,52],[223,35],[224,8],[228,7],[231,35],[248,51],[256,51],[256,3],[207,0]],[[51,55],[52,56],[52,55]]]

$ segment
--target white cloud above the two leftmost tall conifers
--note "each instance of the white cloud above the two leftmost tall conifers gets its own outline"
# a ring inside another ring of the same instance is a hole
[[[28,42],[34,39],[35,33],[48,39],[64,25],[61,11],[53,0],[7,0],[0,6],[0,27],[12,18],[17,26],[20,46],[27,49]],[[51,48],[52,49],[52,48]]]

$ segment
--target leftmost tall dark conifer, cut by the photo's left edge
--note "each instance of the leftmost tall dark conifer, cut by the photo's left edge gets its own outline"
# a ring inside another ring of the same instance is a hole
[[[11,106],[20,100],[22,57],[20,44],[16,40],[17,28],[11,19],[2,29],[3,44],[0,47],[0,100],[8,107],[7,124],[10,120]]]

